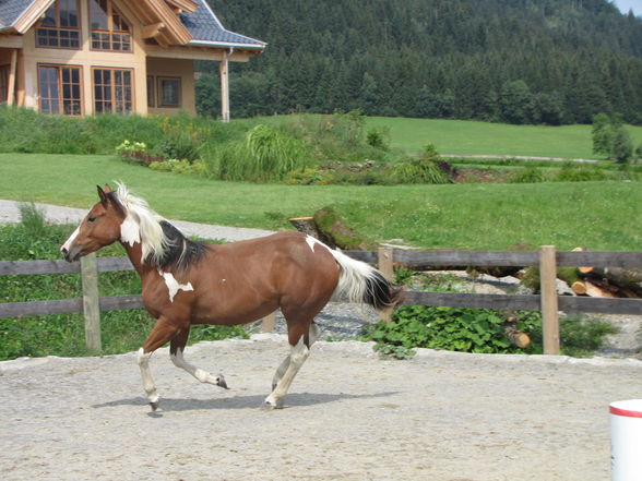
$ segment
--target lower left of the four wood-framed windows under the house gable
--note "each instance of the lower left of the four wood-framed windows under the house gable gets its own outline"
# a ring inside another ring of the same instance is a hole
[[[82,115],[81,68],[38,65],[40,112]]]

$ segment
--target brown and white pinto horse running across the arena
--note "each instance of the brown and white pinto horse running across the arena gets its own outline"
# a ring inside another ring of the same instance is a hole
[[[284,407],[284,397],[319,338],[314,316],[335,297],[390,309],[401,289],[376,268],[296,231],[228,244],[188,239],[118,183],[97,187],[97,202],[60,248],[69,262],[120,242],[142,280],[142,300],[156,324],[138,351],[143,388],[152,410],[159,396],[150,370],[152,353],[169,342],[171,362],[201,383],[227,388],[222,374],[190,364],[183,356],[192,324],[238,325],[281,308],[289,356],[272,380],[263,408]]]

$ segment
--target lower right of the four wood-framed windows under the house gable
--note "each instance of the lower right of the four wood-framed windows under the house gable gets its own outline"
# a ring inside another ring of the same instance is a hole
[[[128,113],[133,106],[130,69],[93,69],[96,113]]]

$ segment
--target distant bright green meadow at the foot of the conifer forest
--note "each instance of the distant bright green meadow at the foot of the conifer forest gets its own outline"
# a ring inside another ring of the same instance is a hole
[[[441,154],[520,155],[597,158],[591,125],[508,125],[464,120],[370,117],[368,127],[388,127],[392,147],[417,152],[431,142]],[[627,125],[633,145],[642,143],[642,127]]]

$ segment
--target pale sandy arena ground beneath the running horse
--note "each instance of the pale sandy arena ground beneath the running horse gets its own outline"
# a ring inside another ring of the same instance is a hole
[[[0,478],[25,480],[604,481],[608,405],[642,397],[632,359],[484,356],[318,342],[286,408],[259,409],[285,339],[203,342],[152,358],[150,411],[133,353],[0,362]]]

